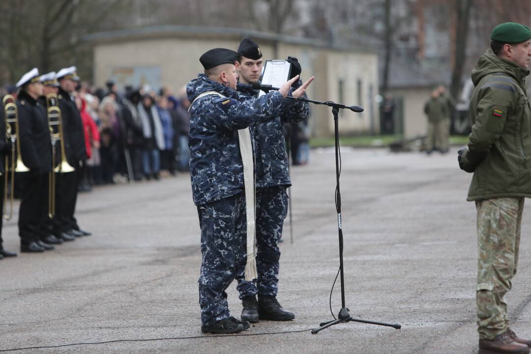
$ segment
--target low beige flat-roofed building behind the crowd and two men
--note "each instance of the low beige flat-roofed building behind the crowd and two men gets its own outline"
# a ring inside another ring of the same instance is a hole
[[[363,113],[340,113],[340,134],[379,132],[378,58],[366,48],[338,47],[307,38],[233,28],[159,26],[94,33],[84,37],[93,46],[93,82],[103,86],[112,79],[125,85],[149,85],[174,92],[203,71],[199,57],[216,48],[236,50],[242,38],[251,37],[260,46],[263,59],[297,57],[302,78],[315,76],[309,98],[335,101],[365,108]],[[312,136],[333,134],[331,108],[311,105]]]

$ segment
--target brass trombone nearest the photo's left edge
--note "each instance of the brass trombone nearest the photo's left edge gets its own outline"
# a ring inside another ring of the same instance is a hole
[[[15,98],[11,94],[4,96],[2,100],[4,103],[5,113],[5,137],[11,141],[11,168],[10,163],[6,157],[5,159],[5,185],[4,185],[4,219],[11,220],[13,217],[13,199],[15,192],[15,172],[28,172],[29,168],[22,162],[20,154],[20,139],[19,139],[19,113],[16,107]],[[16,149],[16,154],[15,154]],[[8,172],[11,171],[11,191],[8,193]],[[6,199],[9,197],[10,209],[5,208]]]

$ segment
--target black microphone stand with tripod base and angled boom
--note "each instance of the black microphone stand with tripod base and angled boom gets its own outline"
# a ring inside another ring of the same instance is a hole
[[[319,333],[319,331],[336,325],[338,323],[347,323],[347,322],[361,322],[361,323],[369,323],[369,324],[375,324],[379,326],[388,326],[393,327],[397,330],[401,328],[400,324],[391,324],[391,323],[383,323],[383,322],[374,322],[374,321],[367,321],[367,320],[360,320],[359,318],[353,318],[349,314],[349,309],[345,306],[345,280],[344,280],[344,266],[343,266],[343,231],[341,228],[341,192],[339,189],[339,109],[350,109],[353,112],[363,112],[363,108],[359,106],[345,106],[341,103],[335,103],[332,101],[315,101],[311,99],[307,99],[304,97],[294,98],[294,97],[287,97],[290,99],[298,100],[298,101],[304,101],[304,102],[310,102],[314,103],[315,105],[325,105],[328,107],[332,107],[332,114],[333,114],[333,120],[334,120],[334,136],[336,141],[336,211],[337,211],[337,227],[339,231],[339,272],[340,272],[340,281],[341,281],[341,310],[339,311],[338,318],[336,320],[328,321],[328,322],[322,322],[319,324],[319,327],[316,327],[312,330],[313,334]]]

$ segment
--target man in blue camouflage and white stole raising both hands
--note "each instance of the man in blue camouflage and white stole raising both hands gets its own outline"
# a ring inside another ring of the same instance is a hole
[[[241,102],[236,93],[235,59],[233,50],[207,51],[200,58],[205,73],[186,88],[192,102],[190,176],[201,227],[199,303],[203,333],[235,333],[249,328],[249,323],[230,316],[225,292],[245,254],[243,162],[237,130],[276,117],[298,79],[286,82],[279,91]],[[302,96],[310,82],[293,96]]]

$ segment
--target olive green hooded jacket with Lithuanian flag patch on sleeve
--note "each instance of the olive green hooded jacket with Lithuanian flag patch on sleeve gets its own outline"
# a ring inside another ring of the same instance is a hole
[[[529,70],[489,49],[472,71],[472,133],[461,157],[474,169],[468,201],[531,197],[531,109]]]

